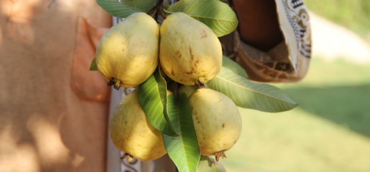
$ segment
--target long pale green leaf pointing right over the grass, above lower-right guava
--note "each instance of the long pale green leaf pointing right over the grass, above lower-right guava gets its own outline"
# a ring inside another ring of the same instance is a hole
[[[207,86],[227,95],[236,106],[242,108],[264,112],[282,112],[291,110],[298,105],[281,89],[251,82],[225,67],[221,68],[219,74],[209,81]]]

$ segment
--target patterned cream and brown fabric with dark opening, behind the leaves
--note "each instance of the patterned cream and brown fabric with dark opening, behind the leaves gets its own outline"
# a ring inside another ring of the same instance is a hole
[[[220,38],[223,54],[237,61],[251,80],[301,80],[311,56],[311,29],[303,1],[233,0],[230,5],[239,26]]]

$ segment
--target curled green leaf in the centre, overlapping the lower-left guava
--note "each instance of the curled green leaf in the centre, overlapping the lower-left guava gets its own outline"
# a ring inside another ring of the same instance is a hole
[[[167,86],[157,68],[149,79],[138,86],[141,107],[149,123],[169,136],[177,136],[167,113]]]

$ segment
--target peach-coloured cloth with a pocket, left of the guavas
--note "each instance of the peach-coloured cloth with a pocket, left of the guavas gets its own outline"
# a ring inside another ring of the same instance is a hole
[[[95,0],[0,0],[0,172],[104,172],[110,87]],[[102,29],[105,28],[105,29]]]

